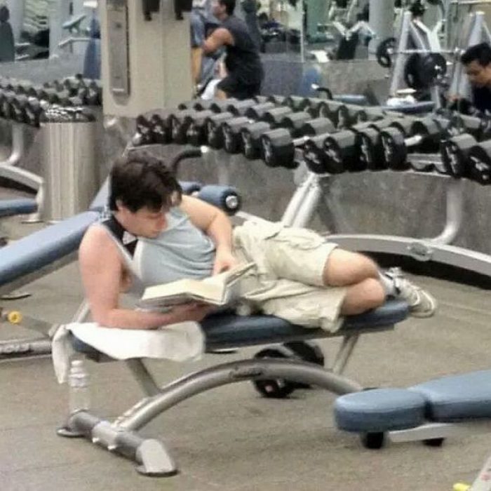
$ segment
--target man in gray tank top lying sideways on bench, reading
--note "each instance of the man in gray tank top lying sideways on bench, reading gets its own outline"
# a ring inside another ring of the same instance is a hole
[[[163,161],[130,152],[110,173],[107,220],[88,229],[79,250],[83,287],[94,321],[154,329],[201,321],[214,307],[178,304],[167,311],[121,305],[123,291],[182,278],[202,279],[253,262],[241,279],[241,301],[306,327],[336,330],[339,318],[402,297],[413,315],[433,315],[436,301],[398,271],[379,271],[365,255],[338,248],[307,229],[245,222],[232,229],[214,206],[182,196]]]

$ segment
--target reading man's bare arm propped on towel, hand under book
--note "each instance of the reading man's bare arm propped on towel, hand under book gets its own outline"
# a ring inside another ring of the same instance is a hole
[[[90,227],[79,249],[79,265],[93,320],[108,328],[155,329],[182,321],[201,321],[208,307],[179,306],[161,314],[119,307],[123,263],[102,227]]]

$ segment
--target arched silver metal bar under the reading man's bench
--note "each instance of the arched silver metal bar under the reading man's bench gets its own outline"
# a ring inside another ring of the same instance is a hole
[[[123,416],[119,420],[118,427],[127,430],[140,429],[161,412],[191,396],[234,382],[260,379],[287,379],[302,382],[320,386],[333,394],[348,394],[362,389],[360,384],[346,377],[302,361],[271,358],[232,361],[171,382],[163,387],[161,394],[140,401],[134,411],[128,411],[128,416]]]

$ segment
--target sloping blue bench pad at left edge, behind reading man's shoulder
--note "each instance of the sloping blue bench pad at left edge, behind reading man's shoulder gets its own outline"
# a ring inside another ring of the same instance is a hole
[[[74,253],[86,229],[99,214],[87,211],[21,238],[0,249],[0,286],[34,274]]]

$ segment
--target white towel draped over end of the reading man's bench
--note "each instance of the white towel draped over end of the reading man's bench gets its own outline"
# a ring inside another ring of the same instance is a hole
[[[116,360],[128,358],[166,358],[172,361],[198,359],[205,337],[199,323],[181,322],[157,330],[105,328],[97,323],[60,325],[52,344],[53,366],[58,382],[67,382],[72,331],[81,341]]]

